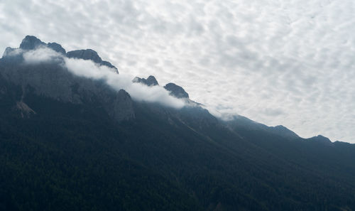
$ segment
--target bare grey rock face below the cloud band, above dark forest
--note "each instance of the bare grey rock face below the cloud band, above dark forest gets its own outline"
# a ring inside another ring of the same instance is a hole
[[[117,121],[135,117],[131,97],[126,91],[117,92],[105,82],[77,77],[60,65],[15,65],[0,69],[0,75],[3,75],[5,80],[23,87],[25,96],[31,92],[60,102],[100,104],[107,114]],[[6,88],[1,88],[0,92],[6,92]],[[27,109],[26,102],[17,104],[16,108],[23,116],[35,113]]]

